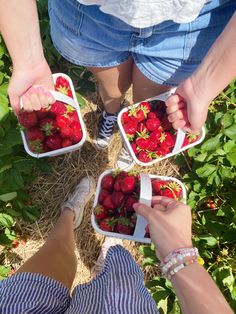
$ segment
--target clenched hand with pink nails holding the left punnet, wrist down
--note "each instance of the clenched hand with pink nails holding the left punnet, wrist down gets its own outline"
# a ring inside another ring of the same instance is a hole
[[[39,110],[55,102],[47,90],[54,90],[51,70],[45,60],[34,66],[24,64],[13,68],[8,94],[16,114],[20,111],[20,97],[26,111]]]

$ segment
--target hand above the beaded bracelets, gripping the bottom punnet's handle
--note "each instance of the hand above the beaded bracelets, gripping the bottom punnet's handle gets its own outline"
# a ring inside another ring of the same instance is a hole
[[[137,214],[149,224],[151,239],[162,261],[170,252],[192,247],[192,218],[190,207],[169,197],[155,196],[152,207],[134,204]]]

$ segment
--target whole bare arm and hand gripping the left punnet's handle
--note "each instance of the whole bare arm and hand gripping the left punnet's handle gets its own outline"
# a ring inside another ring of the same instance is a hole
[[[43,54],[36,1],[0,0],[0,31],[13,62],[9,97],[18,112],[19,97],[32,86],[53,88],[51,71]],[[25,109],[39,109],[48,101],[50,96],[33,89],[25,97]]]

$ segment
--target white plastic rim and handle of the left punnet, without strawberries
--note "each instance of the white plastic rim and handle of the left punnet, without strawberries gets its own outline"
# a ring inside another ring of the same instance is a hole
[[[64,73],[55,73],[55,74],[53,74],[54,83],[56,82],[56,80],[57,80],[57,78],[59,76],[64,77],[69,82],[73,98],[68,97],[65,94],[62,94],[62,93],[57,92],[57,91],[50,91],[50,93],[52,94],[52,96],[56,100],[62,101],[65,104],[70,105],[70,106],[75,108],[75,110],[77,111],[78,117],[79,117],[79,122],[81,124],[81,129],[82,129],[83,136],[82,136],[81,141],[79,143],[74,144],[74,145],[71,145],[71,146],[68,146],[68,147],[63,147],[63,148],[56,149],[56,150],[49,151],[49,152],[45,152],[45,153],[34,153],[34,152],[32,152],[30,150],[30,148],[28,146],[27,139],[26,139],[24,131],[20,130],[22,141],[23,141],[24,148],[25,148],[26,152],[30,156],[35,157],[35,158],[53,157],[53,156],[58,156],[58,155],[62,155],[62,154],[65,154],[65,153],[69,153],[69,152],[75,151],[75,150],[81,148],[81,146],[84,144],[85,139],[86,139],[86,129],[85,129],[85,125],[84,125],[84,122],[83,122],[82,115],[81,115],[79,103],[78,103],[77,98],[76,98],[75,89],[74,89],[72,80],[71,80],[71,78],[68,75],[66,75]],[[20,99],[20,106],[21,106],[21,108],[23,107],[22,98]]]

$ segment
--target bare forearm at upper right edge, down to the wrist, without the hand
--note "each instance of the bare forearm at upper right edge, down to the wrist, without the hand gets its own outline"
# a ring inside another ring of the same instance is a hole
[[[235,56],[236,13],[192,75],[196,93],[214,99],[236,77]]]

